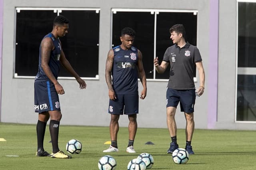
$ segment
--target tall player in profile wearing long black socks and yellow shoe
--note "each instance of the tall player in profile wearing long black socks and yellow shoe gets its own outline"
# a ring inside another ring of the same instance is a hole
[[[38,113],[38,123],[36,125],[38,148],[36,156],[71,158],[58,147],[59,125],[62,117],[58,94],[64,94],[63,87],[57,81],[60,63],[76,78],[80,89],[85,89],[86,83],[74,71],[62,51],[59,37],[68,33],[68,23],[69,20],[64,16],[57,16],[53,22],[52,32],[44,36],[40,44],[38,73],[34,82],[35,112]],[[44,150],[44,133],[49,118],[52,154]]]

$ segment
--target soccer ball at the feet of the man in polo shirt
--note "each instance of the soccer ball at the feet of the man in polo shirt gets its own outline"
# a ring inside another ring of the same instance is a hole
[[[176,164],[186,164],[188,162],[188,151],[178,148],[172,152],[172,160]]]

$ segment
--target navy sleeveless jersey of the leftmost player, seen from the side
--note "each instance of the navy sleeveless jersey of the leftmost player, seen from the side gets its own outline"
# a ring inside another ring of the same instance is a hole
[[[48,65],[55,79],[57,79],[58,73],[60,71],[60,52],[61,52],[60,40],[58,38],[54,38],[52,33],[49,33],[46,36],[44,36],[44,38],[47,38],[47,37],[51,38],[54,44],[54,50],[51,51]],[[40,44],[40,50],[39,50],[38,73],[36,74],[35,81],[50,81],[50,79],[46,76],[41,66],[41,44]]]

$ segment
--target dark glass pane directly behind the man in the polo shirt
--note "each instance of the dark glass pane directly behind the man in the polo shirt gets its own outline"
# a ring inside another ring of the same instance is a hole
[[[170,28],[175,24],[183,24],[186,30],[185,39],[192,45],[196,45],[197,16],[188,12],[160,12],[156,22],[156,56],[161,62],[166,49],[173,45],[170,39]],[[170,66],[165,73],[156,72],[156,79],[169,79]],[[194,77],[196,68],[194,67]]]

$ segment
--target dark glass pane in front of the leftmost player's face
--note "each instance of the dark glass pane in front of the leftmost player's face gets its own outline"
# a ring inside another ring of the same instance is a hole
[[[100,13],[96,11],[62,10],[70,20],[68,35],[61,38],[66,58],[80,77],[98,75]],[[72,77],[64,67],[59,76]]]

